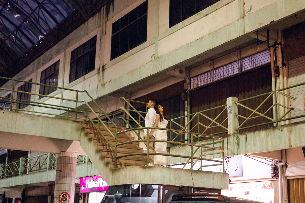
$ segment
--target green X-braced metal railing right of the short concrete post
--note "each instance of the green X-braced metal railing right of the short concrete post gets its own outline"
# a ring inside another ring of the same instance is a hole
[[[290,104],[289,104],[290,102],[286,102],[286,105],[284,105],[283,103],[281,104],[279,102],[279,97],[282,97],[281,98],[282,101],[287,100],[287,99],[288,100],[289,99],[296,100],[296,98],[289,95],[288,90],[291,89],[291,88],[294,88],[294,87],[301,86],[301,85],[305,85],[305,82],[302,82],[302,83],[297,84],[297,85],[289,86],[289,87],[286,87],[286,88],[274,90],[274,91],[271,91],[271,92],[267,92],[267,93],[264,93],[264,94],[260,94],[260,95],[257,95],[257,96],[252,96],[252,97],[249,97],[249,98],[246,98],[246,99],[239,100],[239,101],[235,102],[241,108],[245,108],[246,110],[249,110],[249,112],[250,112],[250,114],[248,116],[242,116],[240,114],[236,114],[236,116],[244,119],[244,121],[242,121],[241,124],[239,124],[239,127],[236,130],[253,128],[253,127],[266,125],[266,124],[274,124],[275,126],[278,126],[280,122],[305,117],[305,114],[298,115],[298,116],[292,116],[292,117],[289,116],[289,113],[291,112],[291,110],[293,110],[293,109],[290,108]],[[246,102],[246,101],[248,103],[251,103],[253,100],[256,100],[256,99],[262,98],[262,97],[266,97],[266,98],[262,99],[263,101],[255,109],[252,109],[250,107],[247,107],[245,104],[242,104],[242,102]],[[267,103],[268,100],[269,101],[273,100],[272,105],[268,106],[267,110],[265,110],[263,113],[259,112],[259,110],[264,106],[264,104]],[[280,112],[281,112],[280,108],[281,108],[282,114],[280,114]],[[266,115],[268,112],[270,113],[271,110],[273,110],[273,118]],[[258,123],[258,124],[255,124],[255,125],[246,125],[247,121],[250,121],[251,119],[255,119],[255,118],[259,118],[259,117],[264,117],[265,120],[267,120],[267,122],[262,122],[262,123]]]

